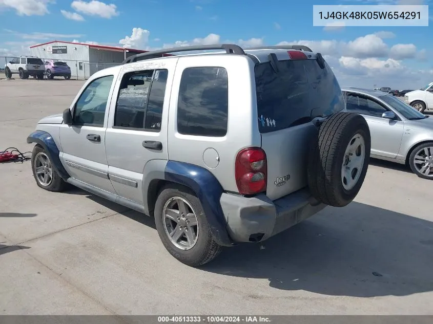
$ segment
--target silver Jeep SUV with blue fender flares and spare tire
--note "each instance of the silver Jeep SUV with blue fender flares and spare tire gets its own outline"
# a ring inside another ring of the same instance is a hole
[[[154,217],[190,266],[347,205],[370,153],[365,119],[345,112],[332,70],[304,46],[131,56],[27,142],[39,187],[72,184]]]

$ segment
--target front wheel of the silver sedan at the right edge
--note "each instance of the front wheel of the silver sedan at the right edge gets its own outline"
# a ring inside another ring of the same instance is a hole
[[[409,166],[418,177],[433,180],[433,143],[415,147],[409,157]]]

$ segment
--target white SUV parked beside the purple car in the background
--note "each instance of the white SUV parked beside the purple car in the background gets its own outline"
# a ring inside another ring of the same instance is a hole
[[[42,59],[36,56],[20,56],[9,61],[5,66],[5,75],[11,78],[17,73],[20,79],[28,79],[29,76],[44,79],[45,66]]]

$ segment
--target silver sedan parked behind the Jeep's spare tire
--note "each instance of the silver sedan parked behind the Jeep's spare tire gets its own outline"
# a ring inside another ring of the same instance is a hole
[[[342,91],[347,112],[362,115],[368,123],[372,158],[407,164],[418,177],[433,180],[433,116],[381,91]]]

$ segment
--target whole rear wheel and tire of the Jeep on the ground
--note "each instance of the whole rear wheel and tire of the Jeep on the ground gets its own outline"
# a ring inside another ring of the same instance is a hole
[[[200,201],[188,188],[162,188],[155,204],[155,225],[167,251],[188,266],[204,265],[221,252]]]

